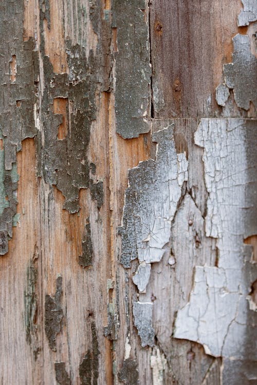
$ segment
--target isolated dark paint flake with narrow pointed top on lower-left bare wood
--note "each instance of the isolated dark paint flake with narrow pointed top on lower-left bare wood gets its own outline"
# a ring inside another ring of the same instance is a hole
[[[56,336],[62,330],[63,310],[61,303],[62,277],[56,280],[56,294],[45,297],[45,332],[51,350],[57,350]]]

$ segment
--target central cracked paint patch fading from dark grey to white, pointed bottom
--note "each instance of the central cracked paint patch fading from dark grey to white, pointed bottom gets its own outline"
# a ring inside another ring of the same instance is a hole
[[[130,267],[138,258],[139,267],[133,277],[139,291],[148,284],[151,263],[159,262],[163,246],[169,242],[181,188],[188,179],[186,153],[176,153],[174,124],[153,133],[157,142],[156,160],[140,162],[128,170],[122,226],[121,263]]]

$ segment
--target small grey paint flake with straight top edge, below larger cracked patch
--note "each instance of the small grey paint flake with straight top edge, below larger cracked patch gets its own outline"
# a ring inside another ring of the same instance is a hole
[[[133,303],[134,324],[138,335],[141,338],[142,347],[154,345],[153,329],[153,303],[152,302],[134,302]]]

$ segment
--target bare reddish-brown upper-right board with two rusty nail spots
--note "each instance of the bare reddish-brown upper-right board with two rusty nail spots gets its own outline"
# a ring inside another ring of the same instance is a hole
[[[215,87],[230,62],[240,0],[153,1],[150,12],[155,118],[221,114]]]

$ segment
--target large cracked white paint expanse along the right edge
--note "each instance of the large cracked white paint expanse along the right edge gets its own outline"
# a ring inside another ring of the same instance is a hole
[[[174,337],[199,342],[207,354],[223,356],[224,378],[231,360],[245,372],[246,360],[257,360],[257,314],[248,303],[257,271],[252,248],[244,244],[257,226],[254,128],[253,119],[201,119],[195,133],[195,143],[204,148],[209,193],[206,235],[216,238],[218,262],[217,267],[196,266],[190,300],[177,313]]]

